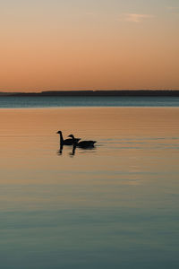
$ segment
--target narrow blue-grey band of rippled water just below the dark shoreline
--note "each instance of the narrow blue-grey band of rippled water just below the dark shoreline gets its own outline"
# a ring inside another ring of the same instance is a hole
[[[179,97],[0,97],[0,108],[179,107]]]

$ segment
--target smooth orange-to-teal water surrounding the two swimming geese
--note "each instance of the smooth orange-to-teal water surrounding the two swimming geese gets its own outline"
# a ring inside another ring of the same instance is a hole
[[[179,108],[0,109],[3,269],[179,265]],[[75,134],[93,150],[64,147]]]

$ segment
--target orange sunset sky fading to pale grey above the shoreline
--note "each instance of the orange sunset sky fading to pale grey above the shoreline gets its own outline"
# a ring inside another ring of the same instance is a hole
[[[179,90],[178,0],[1,0],[0,91]]]

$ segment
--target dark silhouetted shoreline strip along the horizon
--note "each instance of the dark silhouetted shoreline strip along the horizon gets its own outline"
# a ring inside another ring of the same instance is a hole
[[[41,96],[64,96],[64,97],[107,97],[107,96],[129,96],[129,97],[179,97],[179,90],[122,90],[122,91],[41,91],[41,92],[0,92],[0,97],[41,97]]]

